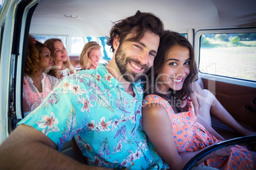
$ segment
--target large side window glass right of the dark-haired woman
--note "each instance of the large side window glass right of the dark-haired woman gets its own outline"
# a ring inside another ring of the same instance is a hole
[[[199,70],[206,74],[256,81],[256,33],[203,34]]]

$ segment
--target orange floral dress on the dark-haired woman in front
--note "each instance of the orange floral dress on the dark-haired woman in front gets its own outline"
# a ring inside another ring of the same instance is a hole
[[[143,100],[143,106],[159,103],[166,108],[173,126],[174,142],[179,153],[193,152],[218,142],[215,136],[206,131],[203,125],[196,122],[192,101],[188,100],[188,111],[175,114],[171,105],[162,97],[148,95]],[[234,145],[230,157],[213,157],[202,162],[203,165],[217,169],[253,169],[253,159],[245,147]]]

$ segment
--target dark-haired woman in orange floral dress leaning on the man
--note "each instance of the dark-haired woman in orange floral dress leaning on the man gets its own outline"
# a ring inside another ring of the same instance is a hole
[[[164,57],[160,57],[164,56]],[[149,70],[143,103],[142,126],[157,153],[170,169],[183,169],[188,160],[209,145],[217,143],[215,136],[197,122],[189,84],[197,79],[193,48],[177,32],[166,31],[158,54]],[[181,108],[181,100],[188,100]],[[217,169],[253,169],[255,152],[235,145],[207,155],[197,164]]]

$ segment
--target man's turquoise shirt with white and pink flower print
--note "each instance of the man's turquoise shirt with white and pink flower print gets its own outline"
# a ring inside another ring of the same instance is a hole
[[[92,166],[165,169],[141,128],[142,84],[132,87],[135,97],[103,65],[81,70],[61,81],[19,124],[38,129],[59,150],[75,136]]]

